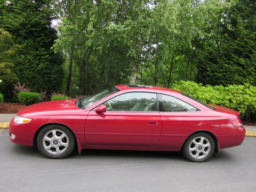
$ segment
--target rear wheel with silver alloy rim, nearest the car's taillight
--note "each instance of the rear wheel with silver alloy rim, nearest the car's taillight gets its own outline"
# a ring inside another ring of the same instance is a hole
[[[190,136],[183,148],[182,154],[192,162],[204,162],[214,153],[215,142],[207,133],[199,132]]]

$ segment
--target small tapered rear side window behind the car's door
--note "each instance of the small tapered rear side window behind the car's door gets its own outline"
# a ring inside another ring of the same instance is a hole
[[[193,112],[200,111],[198,108],[172,96],[158,94],[159,111],[162,112]]]

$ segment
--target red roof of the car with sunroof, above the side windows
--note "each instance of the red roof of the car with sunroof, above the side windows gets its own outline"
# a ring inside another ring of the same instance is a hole
[[[180,91],[176,91],[170,88],[165,88],[165,87],[158,87],[158,86],[152,86],[152,85],[126,85],[126,84],[121,84],[121,85],[116,85],[116,88],[120,90],[157,90],[157,91],[168,91],[168,92],[174,92],[174,93],[179,93],[181,94]]]

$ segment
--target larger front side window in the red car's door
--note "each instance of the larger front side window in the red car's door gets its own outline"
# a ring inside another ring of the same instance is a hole
[[[132,92],[116,96],[103,103],[107,111],[157,111],[155,93]]]

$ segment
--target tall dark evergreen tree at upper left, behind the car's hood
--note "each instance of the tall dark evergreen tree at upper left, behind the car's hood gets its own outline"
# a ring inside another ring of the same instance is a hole
[[[57,31],[51,26],[50,2],[8,0],[0,6],[0,26],[20,45],[14,72],[32,91],[57,90],[62,83],[62,57],[51,49]],[[15,82],[17,78],[11,85]]]

